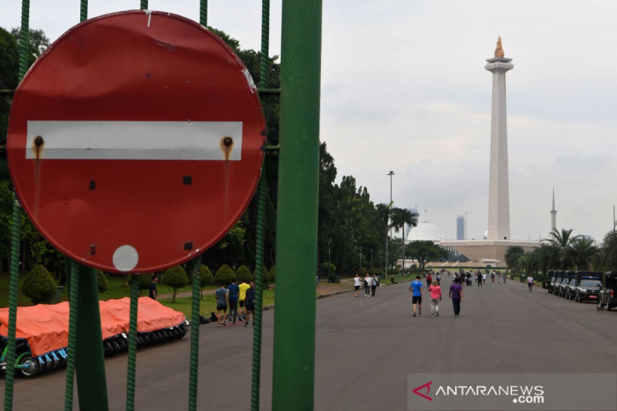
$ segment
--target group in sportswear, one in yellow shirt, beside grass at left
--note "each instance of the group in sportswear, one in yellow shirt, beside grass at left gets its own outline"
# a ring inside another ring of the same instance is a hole
[[[225,315],[229,309],[229,319],[233,320],[233,325],[236,320],[244,321],[244,327],[251,327],[249,320],[251,314],[255,312],[255,284],[251,281],[246,283],[242,281],[240,285],[236,284],[236,280],[232,280],[231,284],[225,287],[225,283],[220,283],[214,295],[217,298],[217,327],[227,325]],[[238,305],[240,313],[238,315]]]

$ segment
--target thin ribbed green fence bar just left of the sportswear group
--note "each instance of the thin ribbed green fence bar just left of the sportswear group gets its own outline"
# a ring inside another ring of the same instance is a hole
[[[191,364],[189,365],[189,411],[197,409],[197,372],[199,371],[199,302],[201,300],[201,256],[193,260],[191,296]]]

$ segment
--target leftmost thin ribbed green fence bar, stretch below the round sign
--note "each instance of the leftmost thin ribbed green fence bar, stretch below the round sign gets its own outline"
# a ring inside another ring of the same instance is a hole
[[[6,380],[4,388],[4,411],[13,409],[13,385],[15,379],[15,328],[17,327],[17,292],[19,285],[19,236],[22,224],[22,208],[15,198],[10,232],[10,279],[9,279],[9,330],[6,349]]]

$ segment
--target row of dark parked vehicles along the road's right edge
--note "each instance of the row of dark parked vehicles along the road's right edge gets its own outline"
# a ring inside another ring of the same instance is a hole
[[[574,299],[579,303],[583,301],[597,303],[598,310],[617,307],[615,271],[602,274],[594,271],[551,270],[543,286],[549,289],[549,293],[566,299]]]

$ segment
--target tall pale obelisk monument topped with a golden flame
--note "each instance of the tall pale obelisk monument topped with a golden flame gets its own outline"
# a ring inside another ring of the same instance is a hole
[[[510,240],[510,193],[508,187],[508,128],[505,104],[505,73],[514,68],[503,57],[501,37],[495,57],[484,68],[493,73],[491,105],[491,166],[489,170],[489,235],[491,240]]]

